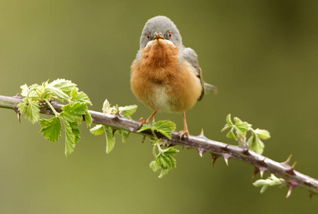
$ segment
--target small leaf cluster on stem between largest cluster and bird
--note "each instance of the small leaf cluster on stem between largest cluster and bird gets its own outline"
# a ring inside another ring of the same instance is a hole
[[[125,118],[131,119],[131,115],[135,113],[137,110],[136,105],[132,106],[123,106],[123,107],[118,107],[116,106],[111,106],[111,104],[106,101],[103,103],[103,113],[108,113],[111,115],[116,115],[120,114],[120,116],[123,116]],[[91,133],[94,135],[98,136],[101,135],[102,133],[105,133],[106,136],[106,153],[110,153],[114,146],[115,146],[115,133],[118,133],[120,136],[122,136],[122,141],[125,142],[126,139],[128,138],[130,131],[126,131],[123,129],[114,129],[111,128],[110,126],[105,126],[105,125],[96,125],[93,128],[90,129]]]

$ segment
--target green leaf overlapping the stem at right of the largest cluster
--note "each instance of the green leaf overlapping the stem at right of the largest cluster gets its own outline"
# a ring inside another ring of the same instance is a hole
[[[86,114],[87,106],[86,103],[77,102],[63,106],[61,109],[63,110],[61,116],[64,116],[66,120],[81,123],[83,119],[82,115]]]

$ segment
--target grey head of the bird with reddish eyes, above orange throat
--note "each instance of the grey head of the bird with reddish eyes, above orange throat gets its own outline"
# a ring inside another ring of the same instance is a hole
[[[155,36],[161,36],[173,42],[179,49],[183,48],[183,42],[177,26],[166,16],[155,16],[146,22],[140,36],[140,49],[144,49]]]

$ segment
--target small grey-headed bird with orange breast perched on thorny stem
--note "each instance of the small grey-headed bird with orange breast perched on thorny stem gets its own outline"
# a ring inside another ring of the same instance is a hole
[[[130,66],[131,91],[139,101],[154,111],[183,113],[184,130],[179,136],[189,137],[185,111],[200,101],[205,90],[215,86],[203,81],[198,55],[185,48],[173,21],[166,16],[149,19],[140,36],[140,50]]]

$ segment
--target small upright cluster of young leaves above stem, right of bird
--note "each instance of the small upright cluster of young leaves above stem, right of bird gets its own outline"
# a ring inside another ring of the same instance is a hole
[[[222,131],[230,129],[227,133],[227,138],[234,139],[240,146],[248,147],[256,153],[263,153],[265,145],[261,139],[265,140],[270,138],[269,131],[260,128],[253,129],[251,124],[243,122],[237,117],[234,117],[235,123],[233,123],[231,120],[231,114],[227,115],[226,121],[227,123],[224,128],[222,128]],[[250,133],[250,138],[246,141],[247,132]]]

